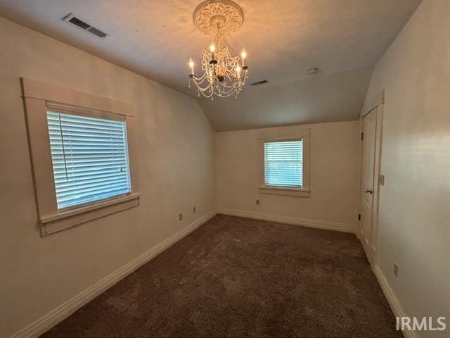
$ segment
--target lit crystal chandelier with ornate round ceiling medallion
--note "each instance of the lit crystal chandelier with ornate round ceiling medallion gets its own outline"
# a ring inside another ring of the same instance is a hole
[[[228,97],[238,94],[248,77],[247,52],[243,48],[239,56],[231,56],[224,37],[237,32],[244,21],[242,9],[230,0],[207,0],[195,8],[195,26],[212,37],[210,49],[203,49],[201,75],[195,74],[195,63],[189,58],[188,87],[191,82],[197,88],[198,96],[214,99],[215,96]]]

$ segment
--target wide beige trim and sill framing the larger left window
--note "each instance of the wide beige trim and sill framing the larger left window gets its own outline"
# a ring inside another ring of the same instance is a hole
[[[134,170],[134,118],[131,106],[102,96],[95,96],[53,84],[21,78],[25,116],[27,120],[28,143],[32,162],[34,193],[37,203],[37,223],[41,235],[68,229],[75,225],[139,206],[140,194],[136,192]],[[111,119],[125,120],[127,125],[127,146],[131,192],[112,196],[98,202],[60,209],[56,204],[55,182],[47,126],[47,108],[61,113],[79,113]],[[58,107],[58,108],[56,108]],[[125,112],[125,113],[124,113]],[[131,112],[131,113],[130,113]]]

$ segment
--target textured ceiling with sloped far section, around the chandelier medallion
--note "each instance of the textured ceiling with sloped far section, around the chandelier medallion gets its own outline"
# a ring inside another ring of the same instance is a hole
[[[250,82],[269,84],[244,89],[238,100],[200,99],[214,130],[356,118],[368,86],[368,68],[420,0],[236,2],[245,22],[228,44],[236,54],[243,45],[248,50]],[[195,90],[187,88],[187,60],[199,60],[200,50],[210,42],[192,23],[199,3],[0,0],[0,15],[196,97]],[[61,20],[68,13],[109,36],[98,39],[68,25]],[[321,74],[307,77],[314,66]]]

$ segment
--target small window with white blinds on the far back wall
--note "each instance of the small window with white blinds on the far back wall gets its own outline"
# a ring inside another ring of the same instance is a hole
[[[267,186],[302,187],[303,142],[264,143],[264,181]]]

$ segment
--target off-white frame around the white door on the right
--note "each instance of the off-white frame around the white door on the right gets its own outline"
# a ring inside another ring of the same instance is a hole
[[[378,251],[378,213],[380,206],[380,186],[384,184],[383,178],[381,176],[381,150],[383,142],[383,108],[385,104],[385,91],[380,90],[371,100],[368,100],[366,104],[361,108],[360,121],[361,121],[361,133],[363,132],[364,125],[362,120],[364,116],[377,109],[375,118],[375,161],[373,168],[373,204],[372,204],[372,242],[368,247],[366,241],[362,237],[362,224],[358,224],[358,230],[356,231],[356,236],[361,241],[361,244],[366,252],[369,263],[375,266],[377,263],[377,251]],[[359,180],[359,192],[362,191],[362,152],[363,152],[363,142],[361,140],[361,177]],[[359,196],[359,214],[361,214],[361,195]]]

